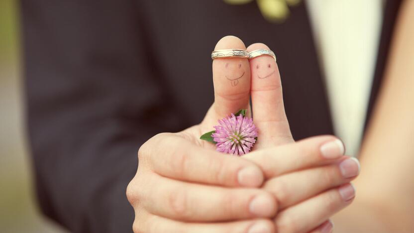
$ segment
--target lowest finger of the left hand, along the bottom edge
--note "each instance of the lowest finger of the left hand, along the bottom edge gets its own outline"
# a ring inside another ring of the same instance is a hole
[[[265,219],[228,223],[183,223],[149,216],[145,221],[135,222],[135,233],[275,233],[274,224]]]

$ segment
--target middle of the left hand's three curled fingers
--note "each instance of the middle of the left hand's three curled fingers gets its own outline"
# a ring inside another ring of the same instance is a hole
[[[185,222],[216,222],[274,217],[276,200],[261,189],[223,188],[171,180],[156,175],[139,193],[154,215]],[[141,188],[142,187],[137,187]]]

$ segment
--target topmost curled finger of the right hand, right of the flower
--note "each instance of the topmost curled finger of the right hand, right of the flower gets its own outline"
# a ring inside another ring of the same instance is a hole
[[[345,152],[334,136],[315,136],[277,147],[253,151],[243,156],[256,163],[266,178],[332,163]]]

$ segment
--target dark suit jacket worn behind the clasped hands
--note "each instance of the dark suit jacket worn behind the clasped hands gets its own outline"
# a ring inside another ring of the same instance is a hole
[[[368,117],[399,5],[385,7]],[[125,188],[136,152],[158,132],[202,120],[213,102],[210,52],[224,35],[276,52],[295,139],[334,133],[305,5],[291,10],[273,24],[254,1],[21,0],[27,125],[43,213],[76,233],[131,232]]]

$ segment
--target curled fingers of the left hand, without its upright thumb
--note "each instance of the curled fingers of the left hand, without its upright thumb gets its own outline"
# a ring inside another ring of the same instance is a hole
[[[247,233],[254,224],[273,227],[269,220],[248,220],[276,213],[272,195],[254,188],[263,173],[253,162],[202,148],[181,133],[154,136],[138,156],[127,189],[134,232]],[[232,220],[244,221],[224,223]]]

